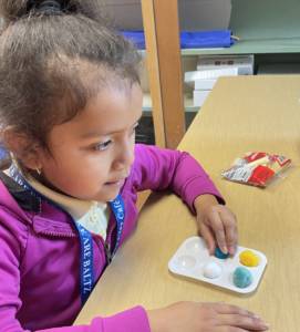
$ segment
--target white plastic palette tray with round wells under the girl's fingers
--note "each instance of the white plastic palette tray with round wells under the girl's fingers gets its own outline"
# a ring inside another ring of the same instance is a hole
[[[240,253],[245,250],[252,252],[258,258],[258,264],[255,267],[244,266],[240,262]],[[218,276],[214,278],[205,277],[208,266],[218,267]],[[206,243],[200,237],[190,237],[186,239],[177,251],[174,253],[168,262],[168,269],[175,274],[192,278],[195,280],[208,282],[216,287],[225,288],[237,293],[251,293],[254,292],[267,266],[266,256],[255,249],[245,247],[237,247],[237,251],[234,257],[220,259],[215,256],[210,256]],[[251,282],[247,287],[237,287],[234,283],[234,276],[237,268],[247,269],[251,274]]]

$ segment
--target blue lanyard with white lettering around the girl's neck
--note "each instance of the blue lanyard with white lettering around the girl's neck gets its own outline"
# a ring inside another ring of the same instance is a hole
[[[23,176],[20,174],[15,166],[10,167],[10,175],[11,177],[25,190],[30,191],[31,195],[35,196],[37,198],[43,198],[49,201],[46,197],[38,193],[34,188],[27,183]],[[53,201],[50,200],[50,204],[53,205]],[[60,208],[58,205],[54,204],[56,208]],[[117,197],[110,201],[110,207],[114,214],[116,220],[116,242],[112,253],[112,257],[115,255],[120,242],[121,237],[124,228],[124,220],[125,220],[125,207],[122,196],[118,194]],[[61,209],[61,208],[60,208]],[[70,216],[72,218],[72,216]],[[86,230],[83,226],[76,222],[72,218],[77,234],[80,238],[80,247],[81,247],[81,259],[80,259],[80,293],[81,293],[81,301],[82,304],[85,303],[87,298],[90,297],[95,279],[94,279],[94,269],[93,269],[93,238],[89,230]]]

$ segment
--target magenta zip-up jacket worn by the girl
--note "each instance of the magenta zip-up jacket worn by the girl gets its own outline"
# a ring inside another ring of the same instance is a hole
[[[70,326],[82,307],[80,243],[73,220],[48,201],[29,195],[3,173],[0,178],[0,331],[149,332],[142,307],[95,318],[89,325]],[[166,188],[179,195],[192,210],[201,194],[213,194],[223,201],[187,153],[136,145],[134,165],[121,190],[125,204],[121,242],[136,227],[136,193]],[[114,241],[112,216],[106,243],[93,235],[96,280],[107,264],[105,247],[113,248]]]

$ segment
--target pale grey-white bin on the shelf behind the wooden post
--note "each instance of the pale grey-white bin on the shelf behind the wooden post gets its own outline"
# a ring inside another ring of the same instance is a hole
[[[166,1],[166,0],[161,0]],[[142,7],[138,0],[102,0],[104,11],[117,28],[142,30]],[[231,0],[178,0],[180,30],[228,29]]]

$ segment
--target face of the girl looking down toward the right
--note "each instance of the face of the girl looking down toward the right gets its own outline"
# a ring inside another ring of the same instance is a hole
[[[134,160],[142,116],[139,85],[105,87],[83,112],[50,133],[52,153],[41,153],[42,174],[61,191],[89,200],[116,197]]]

